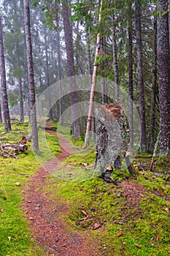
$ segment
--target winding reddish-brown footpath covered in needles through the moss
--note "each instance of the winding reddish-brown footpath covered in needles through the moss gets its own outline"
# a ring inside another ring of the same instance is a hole
[[[56,132],[48,132],[58,136],[63,146],[62,151],[58,157],[47,161],[45,168],[39,167],[28,184],[23,187],[22,209],[30,222],[34,241],[42,247],[45,255],[100,256],[97,241],[89,241],[87,233],[75,231],[64,221],[67,206],[61,205],[57,200],[49,200],[50,195],[43,191],[48,183],[48,170],[53,171],[58,161],[69,157],[70,153],[65,150],[66,148],[69,152],[75,149],[66,138],[57,135]]]

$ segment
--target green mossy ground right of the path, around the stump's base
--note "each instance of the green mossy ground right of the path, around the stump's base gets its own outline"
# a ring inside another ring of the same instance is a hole
[[[81,167],[83,161],[89,165],[94,160],[93,153],[86,154],[84,159],[77,154],[67,158],[65,163],[67,167],[72,162],[75,167]],[[169,162],[165,158],[155,159],[154,172],[149,172],[150,160],[149,156],[134,160],[136,178],[125,173],[125,168],[114,173],[114,178],[125,179],[123,182],[127,184],[131,182],[128,194],[121,184],[107,184],[99,177],[80,182],[49,177],[45,191],[51,200],[69,206],[63,218],[77,232],[97,239],[101,255],[168,256],[170,203],[169,178],[165,173]],[[139,165],[144,165],[145,170],[139,171]],[[164,173],[160,165],[164,165]],[[155,176],[155,173],[163,173],[163,176]],[[88,215],[87,219],[82,210]],[[95,223],[100,225],[96,230]],[[121,236],[117,236],[119,234]]]

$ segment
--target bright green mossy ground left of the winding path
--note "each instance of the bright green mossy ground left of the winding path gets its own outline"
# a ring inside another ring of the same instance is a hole
[[[41,136],[42,130],[39,129]],[[4,126],[0,127],[2,143],[17,143],[23,135],[28,135],[28,121],[24,124],[12,124],[12,132],[4,133]],[[49,148],[44,148],[40,157],[46,161],[50,158],[48,151],[56,156],[60,151],[55,136],[47,134]],[[40,142],[41,143],[41,142]],[[39,162],[35,160],[28,143],[28,151],[19,154],[18,159],[0,157],[0,255],[1,256],[42,256],[42,249],[31,238],[25,214],[20,210],[23,195],[22,186],[35,173]],[[16,183],[19,186],[16,186]]]

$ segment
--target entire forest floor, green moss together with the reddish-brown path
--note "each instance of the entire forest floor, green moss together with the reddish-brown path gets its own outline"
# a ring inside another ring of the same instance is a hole
[[[169,256],[170,159],[155,157],[150,171],[152,155],[137,154],[135,176],[122,162],[107,183],[90,176],[94,143],[84,150],[69,126],[50,124],[58,134],[39,129],[43,167],[30,143],[18,159],[0,158],[0,255]],[[28,122],[12,129],[2,141],[27,135]]]

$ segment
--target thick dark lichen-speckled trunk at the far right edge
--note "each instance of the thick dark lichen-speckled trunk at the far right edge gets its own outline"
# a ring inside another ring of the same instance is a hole
[[[158,1],[158,67],[161,145],[160,154],[170,155],[170,56],[169,2]]]

